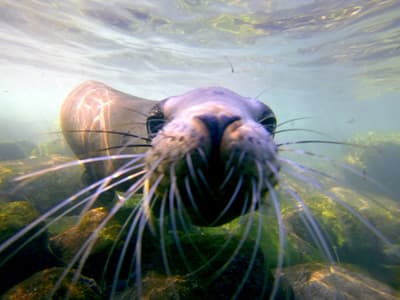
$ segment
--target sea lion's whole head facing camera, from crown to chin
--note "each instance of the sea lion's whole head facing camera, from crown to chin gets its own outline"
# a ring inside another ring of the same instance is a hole
[[[255,210],[276,182],[275,126],[268,106],[224,88],[160,102],[147,120],[145,156],[155,214],[167,201],[191,223],[216,226]]]

